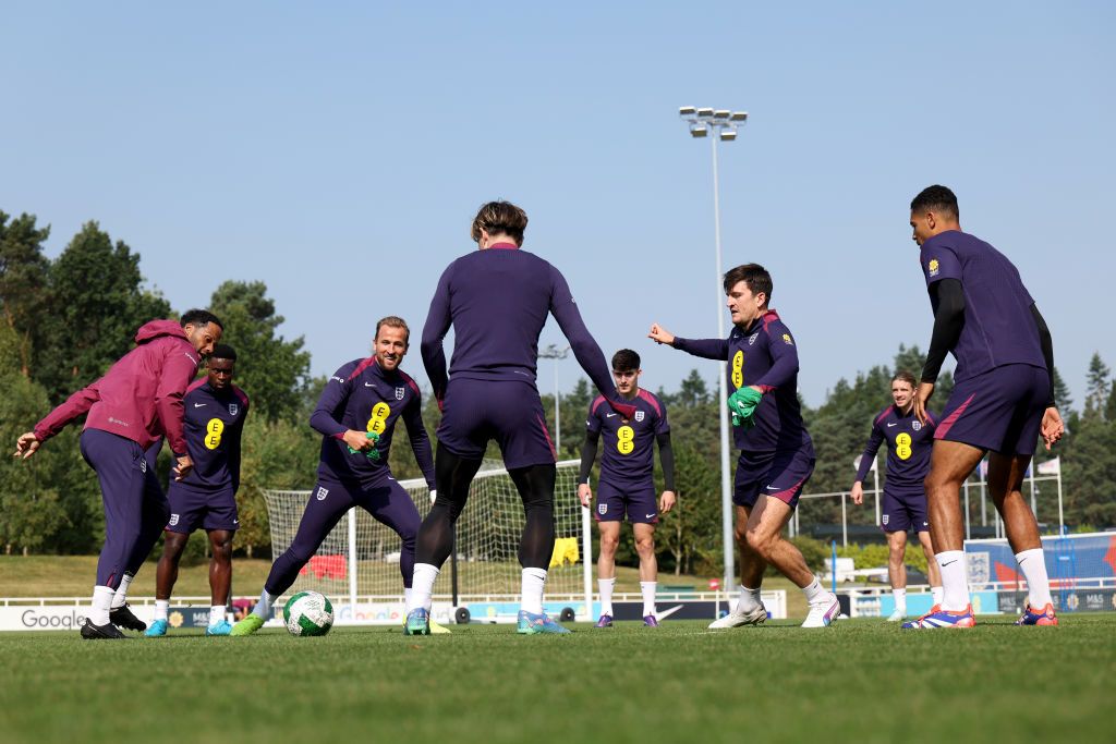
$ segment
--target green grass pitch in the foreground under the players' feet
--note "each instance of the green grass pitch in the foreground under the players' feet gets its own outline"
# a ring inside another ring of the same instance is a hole
[[[971,631],[879,620],[708,631],[338,628],[81,641],[0,637],[0,740],[1110,741],[1116,616]],[[264,738],[266,737],[266,738]]]

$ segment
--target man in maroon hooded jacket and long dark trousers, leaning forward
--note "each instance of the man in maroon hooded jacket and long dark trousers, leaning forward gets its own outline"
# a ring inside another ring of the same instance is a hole
[[[81,455],[100,482],[105,544],[83,638],[124,638],[116,626],[147,627],[125,603],[128,584],[166,524],[166,496],[145,450],[165,436],[175,457],[175,477],[190,474],[193,462],[182,432],[182,396],[200,357],[213,350],[221,331],[221,321],[206,310],[190,310],[180,322],[152,320],[136,332],[136,347],[104,377],[71,395],[16,443],[16,456],[26,460],[42,442],[88,414]]]

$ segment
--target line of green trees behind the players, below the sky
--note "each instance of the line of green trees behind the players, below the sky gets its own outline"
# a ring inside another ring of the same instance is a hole
[[[9,444],[70,393],[103,375],[132,348],[141,325],[185,310],[172,308],[153,291],[140,271],[140,253],[114,241],[96,222],[83,225],[52,260],[42,248],[49,232],[33,215],[13,218],[0,211],[0,441]],[[252,400],[244,428],[235,547],[241,554],[266,557],[270,533],[262,492],[312,486],[320,437],[307,422],[325,378],[311,377],[305,340],[280,334],[283,317],[264,282],[225,281],[214,290],[209,309],[225,323],[224,339],[239,356],[235,383]],[[853,380],[836,380],[818,407],[804,404],[818,456],[808,492],[849,487],[853,461],[864,447],[872,418],[889,403],[892,375],[899,369],[917,375],[922,361],[918,347],[901,345],[889,364],[872,366]],[[1055,371],[1068,434],[1049,455],[1039,447],[1036,460],[1060,456],[1067,523],[1074,529],[1100,529],[1116,525],[1116,380],[1097,354],[1086,383],[1086,399],[1077,407]],[[933,410],[941,409],[951,387],[952,379],[943,375]],[[665,571],[716,574],[722,545],[715,387],[711,389],[694,369],[675,389],[661,388],[656,394],[670,413],[680,493],[679,506],[657,532],[661,566]],[[560,395],[559,458],[579,456],[583,414],[594,396],[585,379]],[[429,392],[424,405],[425,424],[434,438],[440,413]],[[554,396],[545,395],[543,405],[552,423]],[[0,547],[4,552],[99,549],[100,492],[93,471],[81,462],[78,435],[78,427],[68,427],[26,463],[3,458]],[[393,471],[400,479],[420,476],[410,447],[402,441],[400,445],[393,448]],[[499,457],[496,450],[490,454]],[[165,453],[160,465],[165,474],[170,466]],[[840,518],[837,502],[811,502],[809,509],[811,523]],[[857,519],[870,523],[873,518],[860,512]],[[635,564],[634,548],[622,543],[617,559]]]

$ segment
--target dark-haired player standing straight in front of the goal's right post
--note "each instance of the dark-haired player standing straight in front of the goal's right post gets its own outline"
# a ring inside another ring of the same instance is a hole
[[[613,379],[624,400],[635,406],[635,416],[620,418],[604,396],[589,406],[585,444],[581,447],[581,472],[577,495],[583,506],[593,501],[589,471],[597,458],[597,445],[605,437],[600,456],[600,481],[597,484],[595,516],[600,530],[600,555],[597,558],[597,584],[600,589],[598,628],[613,625],[613,589],[616,586],[616,548],[620,540],[624,515],[632,524],[635,550],[639,554],[639,590],[643,593],[643,624],[658,627],[655,612],[655,588],[658,564],[655,561],[655,524],[658,514],[674,508],[674,451],[671,448],[671,425],[666,406],[647,390],[641,389],[639,355],[620,349],[613,355]],[[663,463],[664,490],[655,500],[655,447]]]

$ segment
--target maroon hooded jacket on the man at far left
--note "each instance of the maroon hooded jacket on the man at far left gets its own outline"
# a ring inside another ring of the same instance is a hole
[[[144,448],[165,435],[172,452],[184,455],[182,397],[199,363],[177,322],[152,320],[136,332],[136,348],[36,424],[35,436],[47,439],[88,413],[85,428],[123,436]]]

